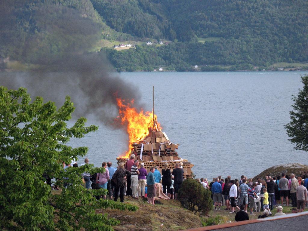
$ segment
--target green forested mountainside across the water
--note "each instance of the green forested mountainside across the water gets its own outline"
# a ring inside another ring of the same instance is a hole
[[[118,71],[193,71],[196,64],[202,71],[232,71],[308,62],[306,0],[8,2],[0,3],[9,9],[0,22],[0,57],[23,63],[89,52],[100,39],[139,42],[124,51],[102,47]]]

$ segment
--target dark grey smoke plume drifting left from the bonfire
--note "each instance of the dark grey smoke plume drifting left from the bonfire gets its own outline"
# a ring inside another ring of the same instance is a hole
[[[16,14],[12,8],[2,10]],[[29,31],[25,33],[24,28],[14,28],[14,20],[17,19],[16,15],[11,14],[6,13],[7,18],[0,15],[1,22],[7,22],[8,18],[13,20],[6,24],[10,28],[6,28],[0,42],[4,39],[6,47],[15,49],[11,52],[15,60],[29,61],[36,67],[18,73],[0,72],[0,85],[9,89],[26,87],[32,99],[42,96],[44,101],[54,101],[58,106],[69,95],[76,108],[76,117],[95,116],[95,119],[113,126],[117,115],[115,94],[122,99],[135,99],[135,107],[141,107],[136,87],[116,76],[101,52],[87,52],[100,32],[93,20],[83,18],[80,12],[68,7],[42,6],[31,11],[34,22],[29,30],[37,31],[31,34]],[[21,33],[14,34],[10,30],[12,28]],[[19,44],[16,43],[16,36],[20,36]],[[44,39],[44,43],[40,38]],[[5,58],[5,50],[0,51]]]

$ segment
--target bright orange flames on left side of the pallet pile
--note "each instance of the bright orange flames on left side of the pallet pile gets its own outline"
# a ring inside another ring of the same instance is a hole
[[[151,127],[154,129],[153,124],[153,111],[144,112],[141,110],[139,113],[136,108],[132,105],[134,100],[131,100],[130,103],[125,103],[125,100],[117,98],[117,104],[119,107],[119,116],[118,119],[121,120],[122,124],[127,125],[128,132],[128,151],[125,152],[125,158],[128,158],[131,154],[132,144],[143,140],[148,135],[148,128]],[[155,121],[157,121],[157,116],[155,115]],[[160,124],[157,124],[157,129],[161,130]],[[156,126],[155,126],[156,130]]]

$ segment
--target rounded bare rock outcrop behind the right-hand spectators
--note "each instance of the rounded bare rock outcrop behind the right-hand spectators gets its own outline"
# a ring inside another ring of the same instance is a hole
[[[272,176],[272,177],[278,175],[281,176],[282,173],[286,174],[294,173],[295,176],[298,176],[303,174],[304,171],[308,171],[308,165],[299,163],[280,164],[264,170],[263,172],[255,176],[253,179],[254,180],[256,180],[257,178],[263,179],[265,176]]]

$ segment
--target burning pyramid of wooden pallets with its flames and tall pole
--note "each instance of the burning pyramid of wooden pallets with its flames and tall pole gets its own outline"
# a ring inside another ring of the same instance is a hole
[[[188,160],[181,159],[176,152],[179,144],[170,142],[166,133],[162,132],[162,128],[157,123],[157,116],[154,114],[154,86],[153,86],[153,111],[143,110],[138,112],[133,107],[134,101],[127,102],[117,98],[119,107],[118,119],[122,124],[127,125],[128,133],[128,151],[122,157],[118,157],[118,164],[126,162],[128,158],[135,154],[136,159],[140,163],[144,163],[144,168],[150,171],[151,167],[158,166],[159,171],[164,168],[167,162],[169,168],[175,168],[177,162],[183,163],[184,178],[191,177],[191,168],[193,164]]]

